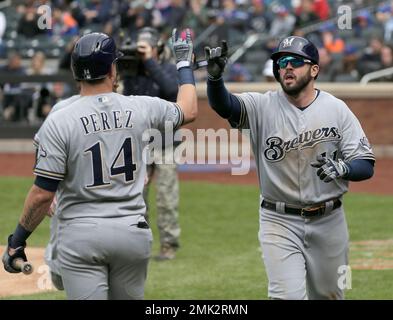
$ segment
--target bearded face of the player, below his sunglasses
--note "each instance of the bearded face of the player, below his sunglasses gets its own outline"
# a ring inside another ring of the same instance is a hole
[[[290,96],[297,96],[313,79],[311,68],[305,65],[298,69],[286,68],[280,70],[280,84],[284,92]]]

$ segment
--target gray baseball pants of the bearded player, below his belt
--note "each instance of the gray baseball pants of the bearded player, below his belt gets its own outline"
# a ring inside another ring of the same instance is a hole
[[[339,268],[348,265],[343,206],[303,218],[260,209],[259,241],[271,299],[343,299]]]

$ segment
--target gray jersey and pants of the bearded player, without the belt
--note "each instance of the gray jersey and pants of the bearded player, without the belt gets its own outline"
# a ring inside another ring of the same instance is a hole
[[[269,297],[344,298],[340,270],[348,270],[349,236],[344,209],[333,209],[333,199],[348,190],[348,181],[325,183],[310,163],[320,154],[374,160],[359,121],[343,101],[323,91],[316,91],[304,110],[291,105],[282,90],[236,96],[241,104],[238,127],[251,131],[261,201],[275,203],[275,210],[259,209]],[[286,206],[323,202],[321,217],[285,211]]]

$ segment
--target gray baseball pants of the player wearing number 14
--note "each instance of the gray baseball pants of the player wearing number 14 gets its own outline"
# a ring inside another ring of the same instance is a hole
[[[138,220],[60,221],[59,264],[68,299],[143,299],[153,237],[150,228],[137,227]]]

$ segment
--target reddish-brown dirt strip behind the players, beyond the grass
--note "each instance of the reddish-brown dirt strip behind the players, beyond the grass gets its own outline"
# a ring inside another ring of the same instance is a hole
[[[0,154],[0,176],[32,176],[33,165],[33,154]],[[378,159],[374,177],[363,182],[352,182],[350,191],[371,194],[393,194],[392,168],[393,159]],[[255,171],[251,171],[249,174],[243,176],[233,176],[230,172],[181,172],[180,179],[224,184],[258,184]]]

